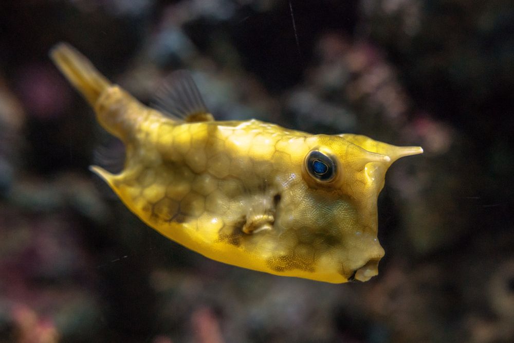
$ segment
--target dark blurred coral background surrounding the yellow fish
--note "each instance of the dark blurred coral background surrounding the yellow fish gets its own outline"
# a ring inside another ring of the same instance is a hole
[[[0,342],[514,341],[514,6],[462,0],[0,4]],[[283,278],[142,224],[87,167],[108,135],[67,41],[145,103],[193,72],[217,119],[425,154],[379,198],[380,274]]]

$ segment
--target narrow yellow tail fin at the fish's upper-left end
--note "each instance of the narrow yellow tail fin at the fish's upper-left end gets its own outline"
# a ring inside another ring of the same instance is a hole
[[[82,53],[67,43],[54,46],[50,50],[50,58],[91,106],[95,105],[105,88],[111,86],[111,82]]]

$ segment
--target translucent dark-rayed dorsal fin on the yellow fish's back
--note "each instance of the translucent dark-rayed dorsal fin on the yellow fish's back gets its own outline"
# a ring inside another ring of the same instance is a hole
[[[187,70],[171,73],[156,92],[152,104],[164,114],[186,122],[214,120]]]

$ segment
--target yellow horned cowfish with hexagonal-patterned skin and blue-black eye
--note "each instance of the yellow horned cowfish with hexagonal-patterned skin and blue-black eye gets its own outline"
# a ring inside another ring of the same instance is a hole
[[[172,73],[153,108],[67,43],[50,58],[125,146],[119,173],[90,170],[163,236],[274,275],[329,283],[378,275],[378,194],[392,163],[421,147],[216,121],[185,70]]]

